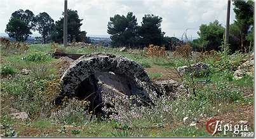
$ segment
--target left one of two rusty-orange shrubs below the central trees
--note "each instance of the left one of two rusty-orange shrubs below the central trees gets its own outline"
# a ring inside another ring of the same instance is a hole
[[[166,56],[165,47],[154,46],[150,44],[148,48],[144,48],[148,56]]]

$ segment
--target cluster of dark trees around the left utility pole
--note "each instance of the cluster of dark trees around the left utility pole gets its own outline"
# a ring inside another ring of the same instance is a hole
[[[80,29],[81,25],[83,25],[81,23],[83,19],[79,18],[77,11],[68,10],[67,17],[69,42],[90,43],[90,39],[86,37],[86,31],[81,31]],[[16,41],[24,42],[32,34],[32,31],[37,30],[41,34],[41,41],[44,44],[50,41],[62,43],[64,36],[63,20],[64,17],[61,17],[60,20],[54,22],[46,12],[34,15],[30,10],[17,10],[11,14],[5,32]]]

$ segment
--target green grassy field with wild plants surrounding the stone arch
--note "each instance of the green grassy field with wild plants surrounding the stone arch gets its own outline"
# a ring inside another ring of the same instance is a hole
[[[232,75],[243,59],[250,54],[192,56],[191,58],[149,57],[142,50],[120,52],[116,48],[60,49],[67,53],[90,54],[94,52],[126,56],[142,64],[152,81],[175,79],[188,89],[191,96],[181,95],[175,100],[165,96],[156,98],[156,106],[135,107],[123,111],[118,117],[98,120],[84,113],[84,102],[69,100],[65,107],[51,105],[58,95],[61,62],[48,55],[53,52],[50,44],[33,44],[27,51],[1,50],[1,136],[208,136],[205,122],[210,117],[238,124],[248,121],[248,129],[254,132],[254,77],[234,80]],[[170,53],[170,52],[168,52]],[[210,65],[210,75],[195,78],[180,77],[175,70],[179,66],[203,62]],[[28,75],[21,74],[29,69]],[[209,82],[201,82],[206,79]],[[26,112],[29,118],[11,118],[12,112]],[[241,136],[228,132],[214,136]]]

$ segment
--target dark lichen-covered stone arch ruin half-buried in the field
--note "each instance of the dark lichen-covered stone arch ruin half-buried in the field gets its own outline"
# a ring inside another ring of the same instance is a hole
[[[105,93],[113,95],[136,95],[144,102],[151,103],[152,93],[157,89],[147,76],[144,68],[137,62],[123,56],[103,53],[83,55],[65,70],[62,78],[62,91],[55,100],[76,97],[90,101],[93,112],[102,112]]]

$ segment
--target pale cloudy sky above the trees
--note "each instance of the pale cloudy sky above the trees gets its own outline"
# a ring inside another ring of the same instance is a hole
[[[30,10],[35,15],[46,12],[53,20],[59,20],[64,11],[64,0],[0,0],[0,33],[3,33],[11,13],[16,10]],[[88,36],[106,36],[107,23],[114,15],[126,15],[132,11],[138,25],[145,14],[163,18],[161,29],[166,36],[181,37],[185,29],[187,36],[198,37],[199,26],[219,20],[226,26],[227,0],[68,0],[68,8],[77,10],[83,19],[81,30]],[[234,11],[231,2],[231,23]],[[33,32],[37,36],[37,32]]]

